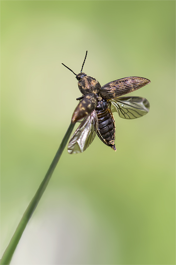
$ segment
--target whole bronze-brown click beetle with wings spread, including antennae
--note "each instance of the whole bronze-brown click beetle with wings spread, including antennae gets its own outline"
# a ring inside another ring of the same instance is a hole
[[[76,75],[82,97],[76,107],[72,123],[80,122],[69,144],[68,153],[82,153],[89,147],[97,133],[100,140],[116,151],[115,120],[112,112],[118,112],[124,119],[136,119],[149,112],[150,104],[143,97],[119,97],[133,92],[147,84],[150,80],[143,77],[125,77],[102,86],[93,77],[81,72]]]

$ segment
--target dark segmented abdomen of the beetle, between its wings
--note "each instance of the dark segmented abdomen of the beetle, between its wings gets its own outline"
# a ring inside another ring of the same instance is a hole
[[[107,100],[103,99],[98,102],[96,108],[98,116],[97,135],[106,145],[111,146],[116,151],[115,140],[115,121],[112,112],[109,110]]]

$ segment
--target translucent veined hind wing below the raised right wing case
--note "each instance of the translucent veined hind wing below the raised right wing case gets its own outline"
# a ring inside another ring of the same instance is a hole
[[[150,104],[144,97],[116,97],[111,100],[112,112],[118,112],[124,119],[136,119],[149,112]]]

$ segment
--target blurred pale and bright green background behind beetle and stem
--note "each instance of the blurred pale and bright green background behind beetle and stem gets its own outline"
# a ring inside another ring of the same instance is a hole
[[[114,114],[116,153],[64,150],[11,264],[175,264],[175,1],[1,1],[1,256],[81,96],[61,63],[86,50],[101,85],[150,79],[150,112]]]

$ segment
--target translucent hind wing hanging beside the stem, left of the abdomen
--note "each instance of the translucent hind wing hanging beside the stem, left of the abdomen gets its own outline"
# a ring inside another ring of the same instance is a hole
[[[68,143],[68,153],[77,154],[84,152],[95,138],[98,128],[97,113],[94,110],[86,117]]]

